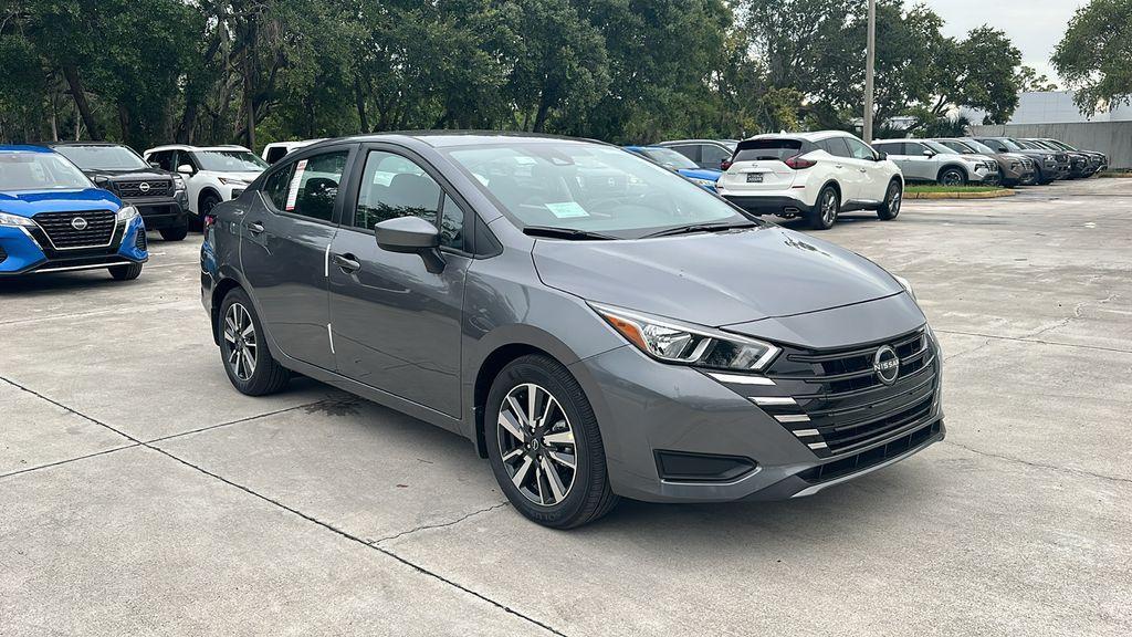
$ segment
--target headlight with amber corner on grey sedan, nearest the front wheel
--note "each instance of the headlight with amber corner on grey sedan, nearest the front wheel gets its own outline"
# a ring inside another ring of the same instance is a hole
[[[620,307],[591,305],[626,340],[649,356],[666,363],[758,372],[766,368],[779,354],[779,348],[773,345],[738,334],[677,323]]]

